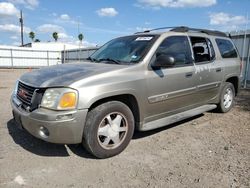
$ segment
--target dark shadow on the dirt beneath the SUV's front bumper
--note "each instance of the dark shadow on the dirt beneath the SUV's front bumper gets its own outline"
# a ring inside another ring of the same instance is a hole
[[[34,153],[39,156],[46,157],[68,157],[70,156],[67,151],[67,147],[76,155],[84,158],[94,158],[84,150],[81,145],[63,145],[63,144],[53,144],[40,140],[26,130],[17,127],[13,119],[7,122],[7,128],[9,135],[12,137],[13,141],[21,146],[23,149]]]

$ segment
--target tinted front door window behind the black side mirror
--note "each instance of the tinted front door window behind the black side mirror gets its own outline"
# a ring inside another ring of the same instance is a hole
[[[183,66],[192,63],[189,41],[185,36],[172,36],[166,38],[156,51],[156,56],[160,54],[173,57],[175,66]]]

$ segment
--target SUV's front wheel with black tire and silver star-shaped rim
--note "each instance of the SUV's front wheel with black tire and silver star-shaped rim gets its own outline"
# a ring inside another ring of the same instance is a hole
[[[134,116],[122,102],[110,101],[92,109],[83,131],[83,146],[97,158],[121,153],[134,133]]]

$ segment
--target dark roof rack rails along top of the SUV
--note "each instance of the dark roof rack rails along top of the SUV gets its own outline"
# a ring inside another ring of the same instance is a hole
[[[151,31],[158,31],[158,30],[164,30],[164,29],[169,29],[169,31],[175,31],[175,32],[189,32],[189,31],[194,31],[194,32],[205,33],[205,34],[208,34],[208,35],[215,35],[215,36],[227,37],[227,34],[224,33],[224,32],[221,32],[221,31],[208,30],[208,29],[197,29],[197,28],[190,28],[190,27],[186,27],[186,26],[160,27],[160,28],[146,30],[146,31],[143,31],[143,32],[138,32],[138,33],[149,33]]]

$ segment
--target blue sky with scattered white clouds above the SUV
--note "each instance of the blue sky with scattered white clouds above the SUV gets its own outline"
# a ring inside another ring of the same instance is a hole
[[[25,43],[30,31],[43,42],[53,41],[56,31],[59,41],[77,44],[79,30],[91,46],[164,26],[231,31],[250,25],[250,0],[1,0],[0,45],[20,45],[21,9]]]

